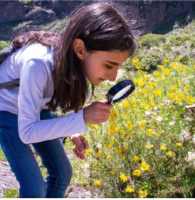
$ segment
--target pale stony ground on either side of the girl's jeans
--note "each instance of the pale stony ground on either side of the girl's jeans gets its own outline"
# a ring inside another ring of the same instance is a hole
[[[18,189],[19,184],[10,170],[9,163],[0,161],[0,198],[6,189]],[[92,197],[88,186],[80,187],[71,183],[67,189],[66,198],[90,198]]]

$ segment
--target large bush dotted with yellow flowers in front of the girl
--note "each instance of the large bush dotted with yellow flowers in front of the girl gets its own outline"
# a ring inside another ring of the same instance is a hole
[[[135,92],[114,106],[109,122],[89,126],[86,155],[94,195],[192,197],[194,119],[185,105],[195,103],[193,69],[164,62],[153,74],[138,71]]]

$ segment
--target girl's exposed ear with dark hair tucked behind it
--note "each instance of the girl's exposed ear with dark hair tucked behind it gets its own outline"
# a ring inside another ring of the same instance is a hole
[[[84,44],[83,40],[81,40],[79,38],[74,39],[73,50],[80,60],[84,60],[86,48],[85,48],[85,44]]]

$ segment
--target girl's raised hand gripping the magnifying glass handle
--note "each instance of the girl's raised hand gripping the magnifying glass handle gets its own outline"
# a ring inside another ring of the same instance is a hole
[[[86,124],[101,124],[108,120],[111,104],[107,100],[96,101],[83,108],[83,117]]]

